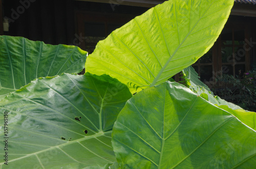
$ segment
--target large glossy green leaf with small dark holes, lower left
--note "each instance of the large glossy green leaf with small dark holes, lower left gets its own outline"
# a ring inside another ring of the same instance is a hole
[[[32,81],[0,102],[9,145],[8,165],[2,160],[0,168],[108,168],[116,162],[112,128],[131,97],[127,86],[108,75]]]

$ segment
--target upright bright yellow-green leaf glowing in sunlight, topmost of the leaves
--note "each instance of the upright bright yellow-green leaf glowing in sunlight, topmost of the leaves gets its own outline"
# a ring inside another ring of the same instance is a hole
[[[132,92],[161,84],[210,49],[233,3],[166,1],[100,41],[88,57],[86,71],[117,78]]]

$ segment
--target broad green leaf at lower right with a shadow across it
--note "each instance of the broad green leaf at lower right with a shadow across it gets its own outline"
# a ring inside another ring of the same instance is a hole
[[[145,89],[119,113],[121,168],[252,168],[256,132],[176,82]]]

